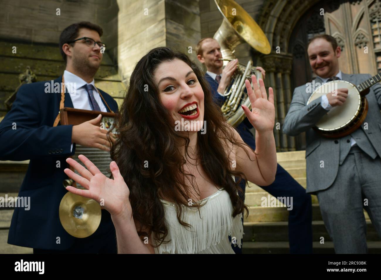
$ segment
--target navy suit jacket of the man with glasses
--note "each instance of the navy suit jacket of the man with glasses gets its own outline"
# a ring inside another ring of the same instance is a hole
[[[54,83],[61,81],[62,76]],[[0,123],[0,160],[30,160],[19,191],[19,197],[30,197],[30,210],[15,207],[8,243],[66,250],[76,238],[62,227],[58,209],[67,193],[62,185],[62,181],[68,178],[64,173],[67,168],[65,160],[74,154],[75,144],[70,152],[72,125],[53,127],[61,93],[45,93],[45,83],[22,85],[12,109]],[[99,91],[111,110],[117,112],[117,102],[109,94]],[[73,108],[69,93],[65,94],[64,107]],[[61,167],[56,167],[57,161]],[[110,214],[102,210],[101,225],[94,236],[110,232],[113,227]]]

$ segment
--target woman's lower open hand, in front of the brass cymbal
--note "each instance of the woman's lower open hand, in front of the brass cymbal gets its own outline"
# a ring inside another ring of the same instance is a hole
[[[120,174],[116,162],[110,163],[110,170],[114,179],[107,178],[99,169],[84,155],[79,155],[78,158],[86,166],[84,168],[72,158],[67,158],[66,162],[69,163],[78,174],[74,173],[69,168],[64,172],[67,176],[78,182],[83,189],[77,189],[72,186],[67,186],[66,189],[73,194],[81,195],[83,197],[91,198],[98,203],[101,203],[103,208],[109,211],[113,216],[132,215],[130,200],[130,190],[128,189],[123,176]]]

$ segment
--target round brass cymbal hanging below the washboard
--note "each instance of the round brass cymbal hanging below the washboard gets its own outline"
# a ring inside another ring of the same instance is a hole
[[[59,204],[59,220],[70,235],[85,238],[101,223],[101,206],[93,199],[68,192]]]

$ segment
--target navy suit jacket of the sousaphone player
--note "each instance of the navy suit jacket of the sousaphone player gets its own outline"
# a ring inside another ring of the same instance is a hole
[[[218,83],[216,80],[214,80],[208,73],[205,73],[205,79],[209,82],[211,90],[212,90],[212,96],[213,100],[221,107],[226,97],[221,96],[218,92]],[[250,132],[250,128],[252,128],[253,125],[249,122],[249,120],[245,117],[245,119],[237,126],[237,131],[242,137],[242,140],[248,144],[253,150],[255,150],[255,140],[253,140],[253,134]]]

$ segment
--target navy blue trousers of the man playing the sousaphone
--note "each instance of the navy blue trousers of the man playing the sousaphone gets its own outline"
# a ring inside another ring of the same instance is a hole
[[[255,150],[255,138],[248,127],[242,122],[237,126],[242,140]],[[237,181],[237,178],[236,178]],[[245,193],[246,181],[240,186]],[[288,217],[288,241],[291,254],[312,253],[312,201],[311,195],[295,181],[291,175],[278,164],[275,181],[269,186],[260,186],[274,197],[293,197],[293,209]],[[243,198],[244,199],[244,198]],[[242,221],[243,222],[243,221]],[[229,238],[230,239],[230,238]],[[232,246],[235,253],[242,253],[242,249]]]

